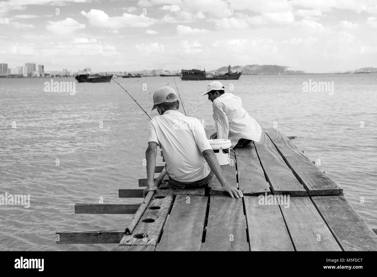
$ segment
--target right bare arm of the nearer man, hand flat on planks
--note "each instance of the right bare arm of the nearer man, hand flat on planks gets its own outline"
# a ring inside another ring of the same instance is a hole
[[[221,187],[223,190],[227,191],[230,194],[230,197],[236,196],[237,198],[243,197],[241,190],[238,190],[236,188],[233,188],[225,179],[224,174],[222,174],[222,170],[219,164],[219,161],[217,160],[215,153],[212,149],[207,149],[202,152],[204,159],[207,161],[208,165],[211,168],[211,171],[215,174],[216,178],[219,180]],[[233,196],[234,195],[234,196]]]

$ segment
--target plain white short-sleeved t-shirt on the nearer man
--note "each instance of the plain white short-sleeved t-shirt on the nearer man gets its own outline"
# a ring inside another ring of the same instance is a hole
[[[210,167],[202,152],[212,147],[198,119],[167,110],[152,118],[149,133],[148,142],[161,147],[166,171],[174,180],[195,182],[208,176]]]

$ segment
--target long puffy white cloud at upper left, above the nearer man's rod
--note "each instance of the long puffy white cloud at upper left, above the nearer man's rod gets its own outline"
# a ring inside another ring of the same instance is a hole
[[[81,14],[89,18],[92,26],[102,28],[149,27],[156,22],[155,19],[145,15],[124,13],[122,16],[109,17],[104,11],[91,9],[89,12],[81,11]]]

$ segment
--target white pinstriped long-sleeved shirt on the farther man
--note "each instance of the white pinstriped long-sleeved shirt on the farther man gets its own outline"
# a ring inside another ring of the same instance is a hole
[[[230,139],[231,147],[240,138],[261,140],[261,126],[242,107],[241,98],[224,93],[213,100],[212,107],[218,139]]]

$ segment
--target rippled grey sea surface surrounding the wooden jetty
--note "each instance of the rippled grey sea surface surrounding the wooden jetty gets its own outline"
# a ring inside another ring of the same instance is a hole
[[[333,81],[334,94],[303,92],[309,79]],[[141,202],[118,198],[118,189],[138,188],[138,178],[146,178],[149,118],[114,82],[76,83],[70,95],[44,92],[48,80],[0,78],[0,194],[31,197],[28,209],[0,206],[0,250],[108,250],[113,245],[57,245],[55,232],[124,230],[132,215],[75,214],[74,204],[100,197]],[[141,84],[151,94],[165,84],[175,88],[173,77],[116,80],[150,116],[157,112],[150,112],[152,98]],[[187,114],[212,126],[211,102],[199,96],[208,81],[176,82]],[[227,91],[234,87],[262,127],[276,121],[285,135],[296,135],[294,144],[320,159],[356,211],[377,227],[377,74],[242,75],[222,83]]]

